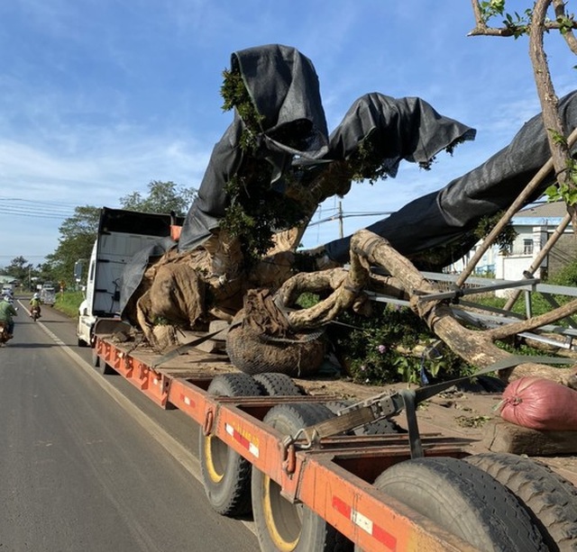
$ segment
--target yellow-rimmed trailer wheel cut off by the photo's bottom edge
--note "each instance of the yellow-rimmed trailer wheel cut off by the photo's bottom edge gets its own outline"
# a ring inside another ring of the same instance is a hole
[[[287,403],[274,406],[263,421],[280,433],[294,435],[301,428],[331,418],[323,404]],[[252,468],[252,512],[262,550],[315,552],[353,550],[353,543],[305,504],[292,503],[279,484]]]

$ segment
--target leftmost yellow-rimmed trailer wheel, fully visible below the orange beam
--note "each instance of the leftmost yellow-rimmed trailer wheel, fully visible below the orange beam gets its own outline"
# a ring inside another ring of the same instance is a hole
[[[260,396],[248,374],[222,374],[208,385],[208,394],[225,397]],[[199,432],[198,456],[206,496],[215,511],[243,516],[251,511],[251,463],[221,439]]]

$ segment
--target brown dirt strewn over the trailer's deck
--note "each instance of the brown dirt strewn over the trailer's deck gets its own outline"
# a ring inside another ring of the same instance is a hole
[[[103,337],[103,336],[101,336]],[[137,358],[148,366],[154,366],[162,358],[143,343],[122,342],[119,333],[107,336],[114,340],[116,348]],[[293,377],[294,382],[307,394],[326,397],[327,400],[361,402],[383,393],[394,393],[402,389],[417,390],[407,384],[359,385],[343,376],[336,366],[325,365],[315,376]],[[219,374],[239,372],[224,351],[204,351],[189,348],[185,354],[170,357],[155,370],[170,377],[212,378]],[[490,385],[487,385],[490,383]],[[487,391],[495,386],[499,391]],[[501,419],[499,403],[505,384],[488,378],[485,385],[453,385],[444,392],[420,403],[417,407],[418,428],[423,437],[428,434],[449,438],[465,439],[465,451],[470,454],[481,452],[514,452],[532,457],[550,466],[559,475],[577,485],[577,431],[526,430]],[[408,429],[405,413],[395,421],[401,428]],[[526,434],[527,433],[527,434]],[[515,440],[517,450],[508,449]],[[527,443],[528,450],[527,451]],[[523,446],[526,449],[523,449]],[[519,448],[520,447],[520,448]],[[521,450],[519,452],[518,450]]]

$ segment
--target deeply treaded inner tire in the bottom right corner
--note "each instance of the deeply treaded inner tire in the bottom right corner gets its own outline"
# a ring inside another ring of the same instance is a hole
[[[548,466],[508,453],[465,458],[517,496],[550,550],[577,550],[577,488]]]

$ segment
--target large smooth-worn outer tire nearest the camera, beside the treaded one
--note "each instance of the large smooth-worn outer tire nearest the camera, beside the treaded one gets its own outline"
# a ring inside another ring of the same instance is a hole
[[[481,550],[547,550],[515,496],[480,468],[450,457],[399,462],[375,486]]]

